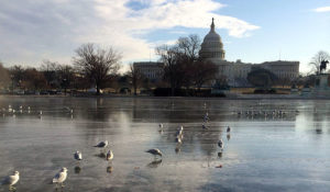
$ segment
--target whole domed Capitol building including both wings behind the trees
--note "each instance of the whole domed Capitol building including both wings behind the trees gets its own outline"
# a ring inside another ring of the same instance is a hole
[[[226,52],[220,35],[216,32],[212,19],[210,32],[205,36],[199,50],[199,57],[212,61],[219,67],[218,78],[226,79],[230,87],[246,87],[248,74],[252,70],[263,68],[272,71],[278,79],[290,82],[299,76],[299,61],[264,61],[262,64],[242,63],[226,60]],[[145,77],[152,81],[161,80],[163,77],[164,64],[162,63],[134,63]]]

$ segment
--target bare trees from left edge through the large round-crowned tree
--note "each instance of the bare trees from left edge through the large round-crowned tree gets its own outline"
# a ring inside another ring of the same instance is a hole
[[[62,65],[44,60],[38,69],[13,66],[4,68],[0,64],[0,82],[14,91],[43,89],[89,89],[97,93],[117,77],[121,56],[112,48],[101,49],[94,44],[81,45],[76,50],[74,65]]]

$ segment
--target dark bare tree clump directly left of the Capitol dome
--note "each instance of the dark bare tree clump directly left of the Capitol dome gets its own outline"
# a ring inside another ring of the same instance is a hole
[[[175,88],[187,90],[195,86],[200,90],[205,83],[216,80],[218,67],[199,59],[200,38],[198,35],[179,37],[174,46],[163,45],[156,48],[161,61],[165,64],[164,77],[170,83],[172,95]]]

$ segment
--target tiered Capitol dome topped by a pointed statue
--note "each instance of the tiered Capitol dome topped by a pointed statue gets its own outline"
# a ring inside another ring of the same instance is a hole
[[[208,59],[211,61],[224,59],[223,44],[220,35],[215,30],[213,19],[210,32],[204,37],[199,56],[202,59]]]

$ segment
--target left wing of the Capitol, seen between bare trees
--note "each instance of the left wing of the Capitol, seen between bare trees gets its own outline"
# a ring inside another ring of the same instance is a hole
[[[154,61],[134,63],[133,67],[136,68],[144,77],[155,82],[163,79],[164,64]]]

